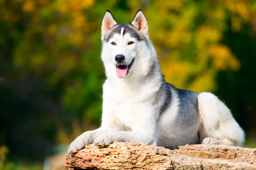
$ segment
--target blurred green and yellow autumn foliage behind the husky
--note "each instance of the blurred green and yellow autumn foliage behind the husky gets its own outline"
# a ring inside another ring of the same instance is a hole
[[[139,8],[166,81],[218,95],[256,147],[255,0],[0,0],[0,170],[42,169],[99,127],[102,18]]]

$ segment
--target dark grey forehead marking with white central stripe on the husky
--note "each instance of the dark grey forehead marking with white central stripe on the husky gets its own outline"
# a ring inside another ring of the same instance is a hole
[[[121,35],[121,38],[125,34],[130,34],[131,37],[134,37],[138,41],[146,41],[146,38],[143,34],[141,34],[133,25],[130,23],[126,24],[117,24],[113,26],[111,31],[105,35],[104,41],[108,42],[111,38],[113,38],[114,34]]]

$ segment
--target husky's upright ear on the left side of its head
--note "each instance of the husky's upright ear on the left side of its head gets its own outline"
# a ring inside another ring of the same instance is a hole
[[[114,19],[113,15],[110,11],[106,11],[105,16],[102,21],[102,37],[104,37],[111,28],[116,25],[116,20]]]

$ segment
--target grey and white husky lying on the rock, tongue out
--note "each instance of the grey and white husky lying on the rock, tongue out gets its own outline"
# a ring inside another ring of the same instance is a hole
[[[244,132],[215,95],[181,90],[165,82],[142,10],[118,24],[110,11],[102,21],[102,125],[78,136],[68,148],[105,147],[113,141],[163,147],[185,144],[240,146]]]

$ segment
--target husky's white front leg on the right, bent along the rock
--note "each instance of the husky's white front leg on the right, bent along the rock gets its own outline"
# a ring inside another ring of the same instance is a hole
[[[134,114],[124,115],[126,119],[131,120],[126,124],[131,131],[116,130],[103,134],[97,137],[93,143],[97,147],[108,146],[113,141],[156,144],[157,116],[154,108],[147,103],[136,105],[134,108],[136,111]]]

